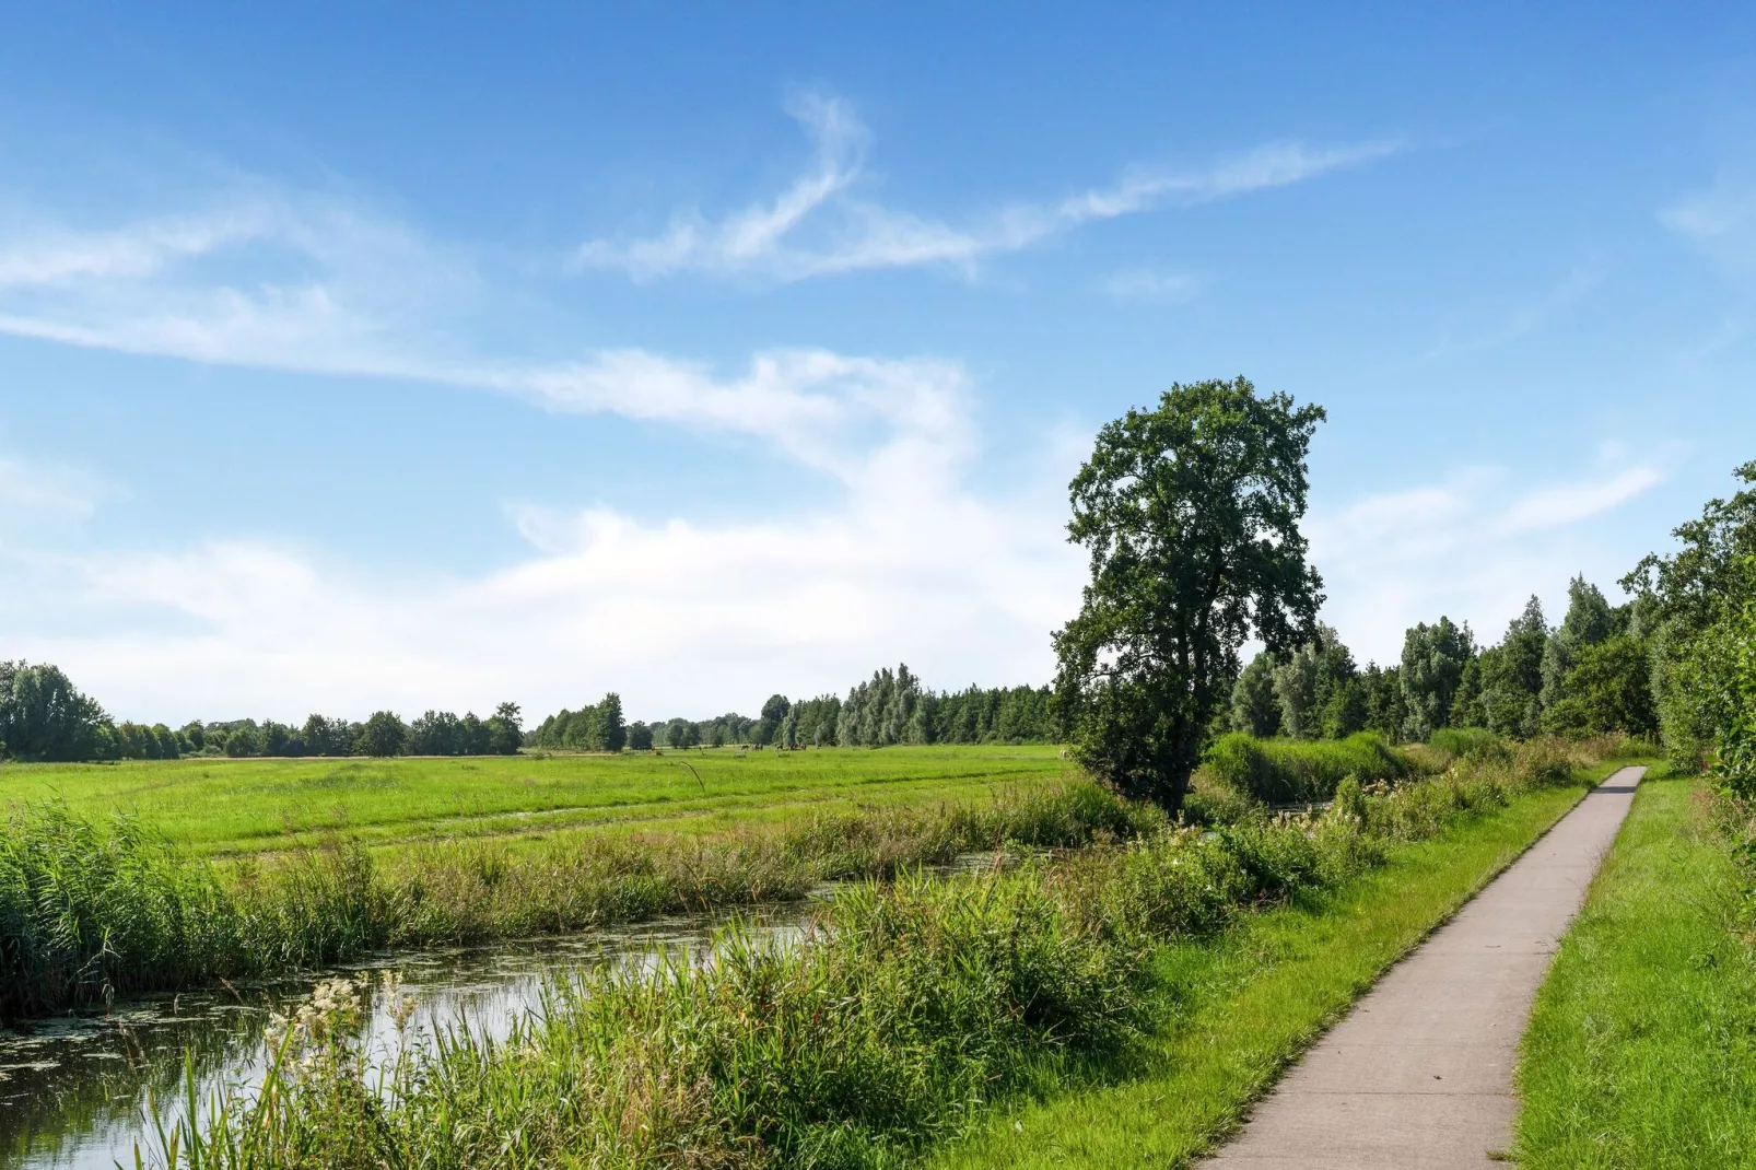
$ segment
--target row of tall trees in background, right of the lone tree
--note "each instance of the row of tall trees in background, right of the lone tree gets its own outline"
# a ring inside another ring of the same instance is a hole
[[[1479,646],[1468,624],[1442,617],[1405,634],[1401,662],[1364,669],[1322,625],[1292,654],[1264,652],[1243,668],[1229,727],[1301,740],[1356,731],[1426,740],[1440,727],[1487,727],[1503,736],[1652,736],[1656,618],[1649,592],[1612,606],[1596,585],[1573,578],[1559,625],[1551,627],[1531,597],[1496,645]]]

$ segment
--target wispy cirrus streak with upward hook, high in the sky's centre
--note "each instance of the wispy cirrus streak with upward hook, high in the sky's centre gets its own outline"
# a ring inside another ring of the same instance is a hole
[[[931,265],[968,274],[985,256],[1022,251],[1085,223],[1291,186],[1401,148],[1393,139],[1335,148],[1270,142],[1203,170],[1136,167],[1108,186],[1054,202],[1015,202],[952,225],[859,193],[871,135],[845,102],[815,95],[788,112],[815,153],[785,191],[718,220],[688,209],[655,235],[588,241],[576,262],[637,281],[678,272],[802,281]]]

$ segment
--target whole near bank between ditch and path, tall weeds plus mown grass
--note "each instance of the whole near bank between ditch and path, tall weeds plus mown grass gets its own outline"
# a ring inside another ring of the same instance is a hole
[[[369,989],[330,984],[269,1086],[156,1161],[1182,1165],[1614,768],[1586,762],[1526,745],[1321,813],[857,887],[801,945],[734,928],[713,964],[581,973],[504,1042],[455,1035],[383,1089],[346,1026]]]

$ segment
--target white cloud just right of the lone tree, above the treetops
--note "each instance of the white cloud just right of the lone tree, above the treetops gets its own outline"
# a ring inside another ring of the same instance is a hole
[[[1326,620],[1361,659],[1378,662],[1400,657],[1405,629],[1442,613],[1496,641],[1533,592],[1556,599],[1575,573],[1596,571],[1610,590],[1626,566],[1605,564],[1601,539],[1584,525],[1663,481],[1661,462],[1535,488],[1472,469],[1335,509],[1313,506],[1306,531],[1329,594]]]

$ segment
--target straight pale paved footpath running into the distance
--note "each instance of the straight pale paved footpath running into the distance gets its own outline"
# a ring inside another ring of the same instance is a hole
[[[1600,784],[1391,968],[1203,1168],[1503,1166],[1519,1036],[1644,771]]]

